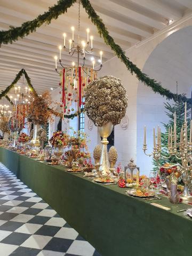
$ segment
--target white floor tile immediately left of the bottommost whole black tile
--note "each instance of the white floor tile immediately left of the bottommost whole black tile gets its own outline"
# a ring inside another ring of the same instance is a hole
[[[30,236],[24,243],[22,243],[21,246],[42,250],[45,245],[49,243],[51,238],[51,236],[33,235]]]

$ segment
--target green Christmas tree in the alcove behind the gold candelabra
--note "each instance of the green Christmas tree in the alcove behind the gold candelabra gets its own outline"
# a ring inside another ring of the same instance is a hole
[[[171,105],[169,102],[164,103],[165,113],[169,117],[169,122],[167,124],[163,123],[165,127],[165,132],[162,133],[162,155],[165,157],[169,157],[169,153],[167,152],[167,144],[168,144],[168,135],[169,135],[169,127],[174,126],[174,112],[177,116],[177,142],[180,141],[180,131],[181,127],[185,121],[185,102],[183,101],[174,101]],[[187,122],[188,122],[188,135],[190,129],[190,119],[191,119],[191,107],[187,106]],[[164,159],[161,157],[159,159],[159,164],[163,165],[164,163],[181,163],[179,159],[174,156],[171,156],[169,159]],[[154,171],[158,170],[157,162],[153,159]]]

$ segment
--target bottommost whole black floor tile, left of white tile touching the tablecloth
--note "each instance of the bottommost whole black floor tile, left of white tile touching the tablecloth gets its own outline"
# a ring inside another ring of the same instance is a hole
[[[73,240],[53,237],[43,250],[67,252]]]

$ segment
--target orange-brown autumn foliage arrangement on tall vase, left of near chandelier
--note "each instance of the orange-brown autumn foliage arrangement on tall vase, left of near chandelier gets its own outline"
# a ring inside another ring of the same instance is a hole
[[[52,103],[50,93],[47,91],[42,95],[31,93],[31,98],[33,98],[33,101],[29,104],[28,121],[33,124],[45,125],[52,115],[49,108]]]

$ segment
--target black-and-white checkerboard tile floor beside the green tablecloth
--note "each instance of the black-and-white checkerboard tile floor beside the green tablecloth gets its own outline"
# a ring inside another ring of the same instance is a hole
[[[1,256],[100,256],[42,198],[0,163]]]

